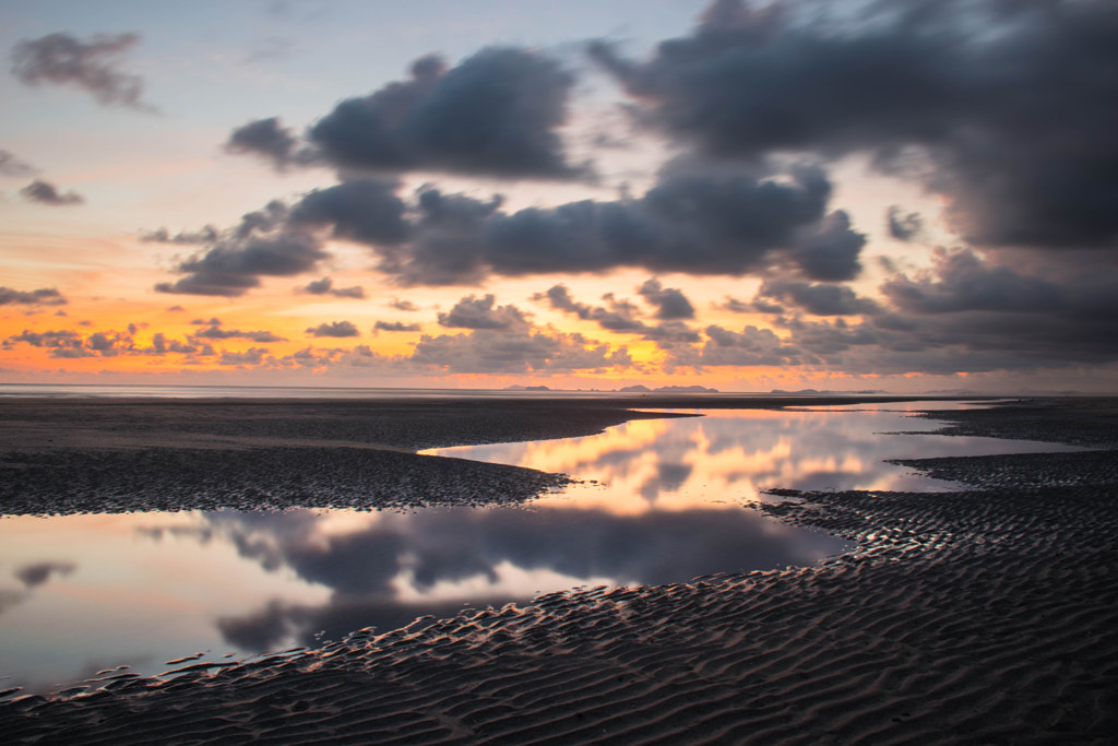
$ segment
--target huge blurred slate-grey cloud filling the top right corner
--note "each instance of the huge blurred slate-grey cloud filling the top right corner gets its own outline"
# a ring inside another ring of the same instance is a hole
[[[1118,237],[1116,38],[1095,0],[718,0],[645,62],[591,51],[709,154],[866,152],[949,197],[972,242],[1059,247]]]

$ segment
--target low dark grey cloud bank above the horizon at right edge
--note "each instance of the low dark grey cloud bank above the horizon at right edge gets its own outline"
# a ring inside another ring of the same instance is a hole
[[[995,259],[974,251],[939,251],[930,268],[885,281],[879,304],[841,286],[768,281],[759,299],[773,296],[789,310],[839,318],[807,320],[778,306],[770,322],[780,337],[756,328],[738,333],[709,327],[700,355],[676,349],[670,365],[949,375],[1118,361],[1112,264],[1081,268],[1079,262],[1057,258],[1041,254],[1029,263],[1017,254]],[[863,321],[850,323],[843,314]]]

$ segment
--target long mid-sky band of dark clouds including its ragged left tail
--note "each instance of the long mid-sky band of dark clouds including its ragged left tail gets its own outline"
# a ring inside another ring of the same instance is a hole
[[[425,187],[405,202],[398,189],[352,179],[311,191],[291,208],[272,202],[180,263],[187,277],[157,290],[240,295],[262,275],[311,271],[326,256],[326,233],[371,248],[377,268],[398,284],[428,286],[620,267],[733,276],[783,267],[839,281],[859,274],[865,243],[844,213],[827,211],[831,182],[809,163],[675,162],[639,199],[511,214],[501,210],[500,197]],[[684,310],[676,292],[667,293],[678,306],[670,313]]]

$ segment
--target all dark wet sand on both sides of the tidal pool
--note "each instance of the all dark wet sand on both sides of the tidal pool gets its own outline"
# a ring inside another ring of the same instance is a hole
[[[673,406],[710,406],[686,402]],[[150,509],[149,479],[182,508],[524,500],[557,478],[372,446],[587,434],[633,404],[3,402],[0,510]],[[550,594],[318,651],[13,692],[0,699],[0,739],[1115,743],[1118,400],[930,416],[948,433],[1100,451],[908,461],[973,489],[796,493],[768,507],[858,541],[819,568]],[[217,474],[191,472],[196,457]],[[387,497],[381,478],[354,482],[367,469],[382,470]],[[292,481],[307,470],[316,481]]]

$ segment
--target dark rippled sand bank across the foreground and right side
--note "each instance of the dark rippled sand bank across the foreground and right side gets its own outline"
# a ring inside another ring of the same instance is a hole
[[[1118,409],[1097,404],[966,422],[1106,448]],[[108,673],[100,690],[9,696],[0,733],[15,743],[1114,743],[1118,452],[907,463],[976,489],[797,493],[767,508],[859,542],[819,568],[550,594],[320,651],[186,662],[157,679]]]

